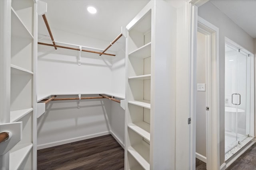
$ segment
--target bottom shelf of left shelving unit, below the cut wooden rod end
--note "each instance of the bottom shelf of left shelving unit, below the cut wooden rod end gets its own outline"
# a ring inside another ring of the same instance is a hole
[[[17,170],[32,149],[32,143],[16,145],[10,150],[10,170]]]

